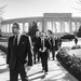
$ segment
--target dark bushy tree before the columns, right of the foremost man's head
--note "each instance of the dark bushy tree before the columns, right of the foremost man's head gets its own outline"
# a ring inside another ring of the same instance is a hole
[[[36,35],[37,31],[38,31],[37,23],[32,22],[29,25],[28,35],[32,38]]]

